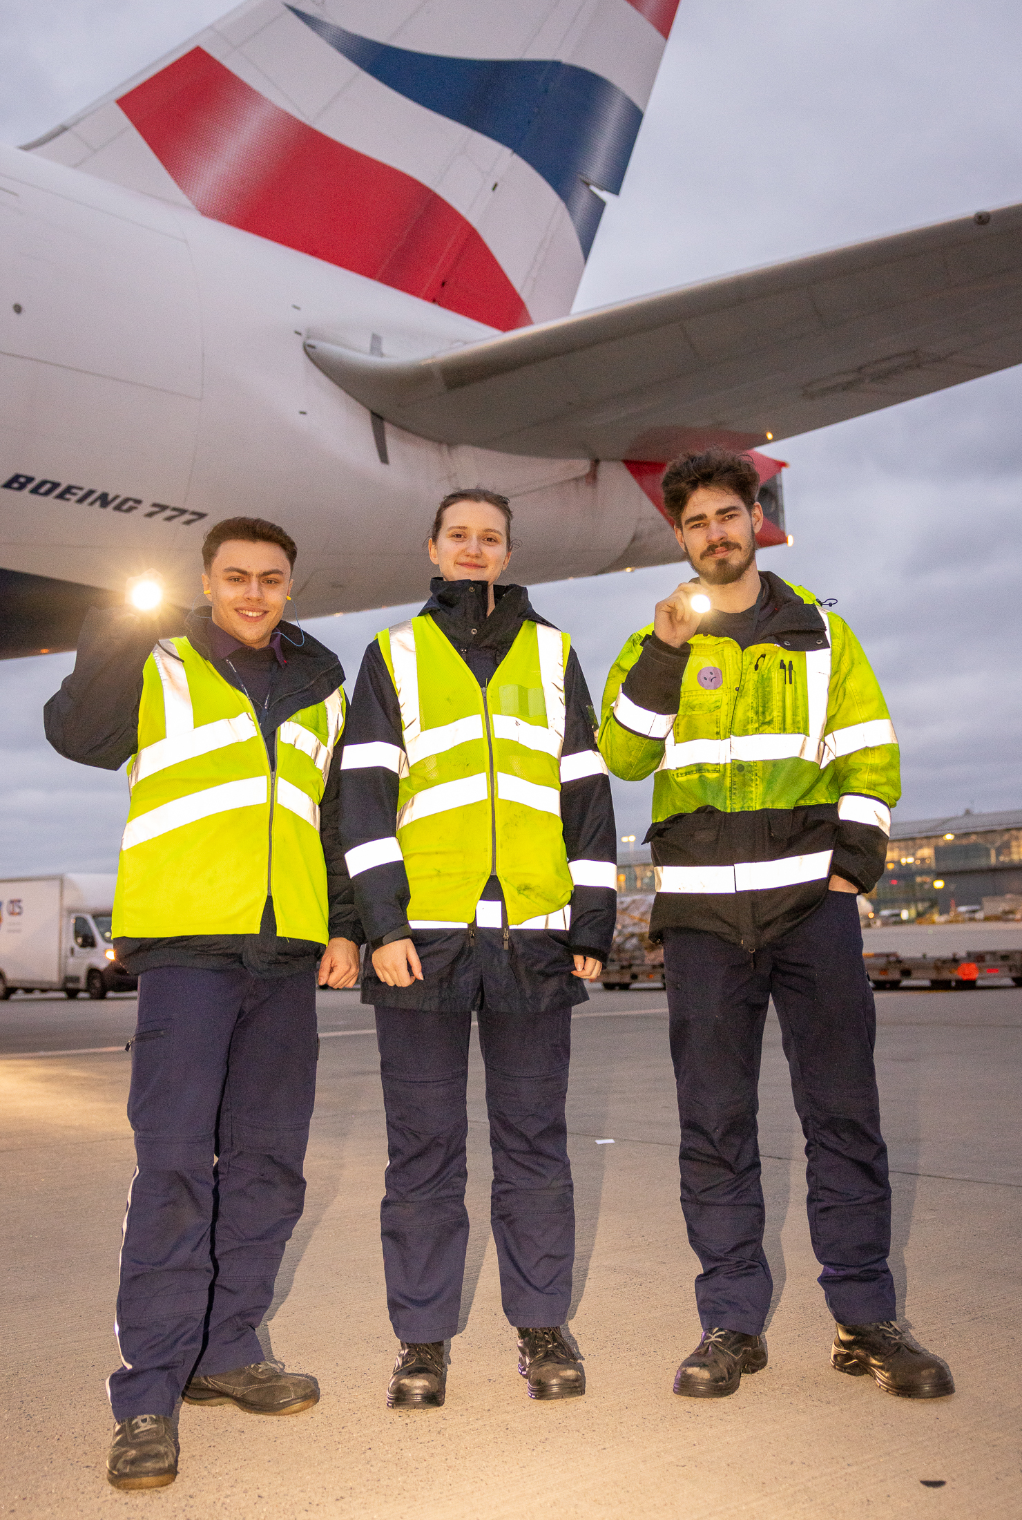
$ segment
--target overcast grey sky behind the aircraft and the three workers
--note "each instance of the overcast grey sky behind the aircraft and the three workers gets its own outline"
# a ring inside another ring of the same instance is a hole
[[[225,14],[220,0],[0,11],[0,138],[23,143]],[[1022,199],[1017,0],[682,0],[577,310]],[[1022,807],[1022,372],[776,444],[793,549],[761,565],[838,599],[902,742],[901,819]],[[677,570],[544,585],[592,687]],[[424,591],[428,567],[424,562]],[[413,608],[410,610],[413,611]],[[311,626],[361,649],[399,610]],[[123,775],[46,745],[71,655],[0,664],[0,876],[112,869]],[[639,838],[648,793],[618,786]]]

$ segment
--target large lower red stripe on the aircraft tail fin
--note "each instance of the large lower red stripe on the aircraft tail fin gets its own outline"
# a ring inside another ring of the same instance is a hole
[[[489,327],[532,321],[453,205],[299,122],[203,49],[117,103],[203,216]]]

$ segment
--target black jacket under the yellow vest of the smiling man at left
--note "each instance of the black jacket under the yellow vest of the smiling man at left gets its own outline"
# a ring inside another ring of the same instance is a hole
[[[281,651],[285,663],[278,664],[272,651],[238,649],[229,660],[214,660],[210,648],[210,608],[193,613],[185,623],[191,646],[238,690],[246,690],[246,676],[266,684],[260,664],[270,661],[269,699],[257,714],[270,755],[276,760],[276,730],[302,707],[323,701],[345,679],[337,655],[302,634],[293,623],[281,623]],[[131,608],[91,608],[77,641],[73,672],[61,690],[46,704],[46,737],[58,754],[80,765],[103,771],[118,771],[138,749],[138,704],[143,690],[143,669],[159,638],[158,616],[134,613]],[[328,923],[331,938],[343,936],[360,944],[363,939],[355,914],[351,880],[345,865],[339,828],[340,749],[334,752],[326,789],[319,807],[319,830],[326,860]],[[290,976],[313,965],[320,945],[307,939],[284,939],[276,933],[273,903],[267,897],[258,935],[181,935],[170,939],[114,941],[118,961],[131,974],[159,965],[205,967],[225,970],[244,965],[257,976]]]

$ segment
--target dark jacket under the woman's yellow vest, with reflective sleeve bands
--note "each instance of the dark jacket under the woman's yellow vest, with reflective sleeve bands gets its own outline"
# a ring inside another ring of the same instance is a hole
[[[434,619],[480,686],[486,686],[513,644],[524,622],[553,626],[528,602],[519,585],[494,587],[495,608],[486,616],[483,581],[434,579],[419,616]],[[563,754],[595,751],[595,713],[574,649],[565,666]],[[351,702],[346,739],[351,745],[386,743],[404,748],[401,710],[380,644],[374,640],[361,661]],[[342,772],[342,838],[345,850],[387,839],[395,831],[398,775],[387,766]],[[560,789],[560,818],[568,859],[617,862],[617,831],[610,781],[606,774],[580,777]],[[604,961],[614,938],[617,894],[610,888],[577,886],[571,898],[568,932],[412,930],[407,906],[408,879],[401,860],[361,871],[354,879],[355,903],[372,948],[396,939],[415,941],[424,982],[410,988],[381,988],[366,965],[363,1000],[392,1006],[454,1009],[474,1006],[480,988],[503,1011],[585,1002],[586,993],[571,976],[573,955]],[[500,900],[495,877],[483,898]],[[480,959],[483,958],[483,959]],[[483,967],[483,970],[480,970]],[[466,1000],[468,999],[468,1000]]]

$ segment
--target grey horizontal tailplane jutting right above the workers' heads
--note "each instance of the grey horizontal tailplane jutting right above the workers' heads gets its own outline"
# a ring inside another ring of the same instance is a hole
[[[436,442],[569,459],[750,448],[1022,363],[1022,205],[425,359],[314,331],[305,350],[377,416]]]

